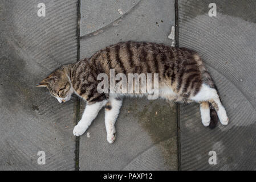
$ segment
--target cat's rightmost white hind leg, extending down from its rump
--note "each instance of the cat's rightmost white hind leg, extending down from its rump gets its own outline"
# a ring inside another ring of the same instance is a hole
[[[202,84],[200,91],[190,98],[196,102],[207,101],[212,104],[214,109],[217,111],[218,118],[222,125],[227,125],[229,123],[229,118],[227,117],[226,110],[221,103],[220,97],[218,96],[218,92],[214,88],[210,88],[210,86],[206,84]]]

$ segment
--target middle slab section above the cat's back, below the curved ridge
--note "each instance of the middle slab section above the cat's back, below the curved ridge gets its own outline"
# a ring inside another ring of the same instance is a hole
[[[97,2],[91,3],[90,9],[97,9]],[[101,48],[128,40],[172,45],[173,40],[168,39],[168,35],[175,24],[174,16],[174,1],[140,1],[125,16],[113,20],[109,26],[96,30],[94,34],[82,36],[80,57],[90,57]]]

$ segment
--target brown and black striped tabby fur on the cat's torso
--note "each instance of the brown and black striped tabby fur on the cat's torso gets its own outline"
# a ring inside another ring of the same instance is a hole
[[[121,42],[97,51],[90,59],[75,64],[64,65],[76,93],[94,104],[109,96],[97,92],[100,73],[110,77],[110,69],[115,74],[159,73],[159,86],[170,86],[177,97],[166,96],[174,101],[189,102],[201,89],[202,83],[215,88],[200,56],[187,48],[173,48],[163,44],[146,42]],[[147,75],[147,74],[146,74]],[[213,103],[213,105],[215,105]]]

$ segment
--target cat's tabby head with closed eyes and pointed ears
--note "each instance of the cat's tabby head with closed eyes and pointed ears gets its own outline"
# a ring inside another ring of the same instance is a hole
[[[47,88],[51,96],[55,97],[60,103],[70,100],[72,93],[74,93],[71,82],[63,68],[57,69],[36,86]]]

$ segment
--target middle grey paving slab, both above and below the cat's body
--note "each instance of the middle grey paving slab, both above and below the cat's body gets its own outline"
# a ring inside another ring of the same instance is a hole
[[[132,6],[133,1],[118,1],[111,8],[104,8],[95,1],[83,5],[84,2],[82,7],[86,5],[90,11],[82,8],[82,24],[83,19],[94,22],[95,29],[82,28],[81,59],[121,41],[173,43],[168,35],[174,26],[174,1],[140,1],[135,6]],[[124,16],[118,14],[119,7],[125,10]],[[101,15],[97,20],[90,18],[90,12],[99,11],[107,20],[101,20]],[[105,27],[102,21],[107,22]],[[176,131],[173,105],[161,100],[127,98],[117,119],[115,143],[107,142],[103,110],[87,131],[90,138],[87,133],[80,137],[80,170],[177,169]]]

